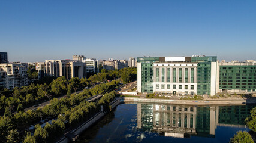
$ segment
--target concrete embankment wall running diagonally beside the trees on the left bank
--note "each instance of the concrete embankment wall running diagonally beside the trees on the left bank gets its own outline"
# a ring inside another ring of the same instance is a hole
[[[121,104],[121,98],[117,98],[115,101],[111,102],[111,110]],[[98,122],[103,116],[105,116],[107,113],[99,112],[94,117],[83,123],[81,126],[79,126],[77,129],[71,130],[70,133],[73,133],[74,135],[80,135],[83,131],[88,129],[90,126],[92,126],[94,123]],[[70,139],[68,139],[66,136],[58,141],[58,143],[68,143],[71,142]]]

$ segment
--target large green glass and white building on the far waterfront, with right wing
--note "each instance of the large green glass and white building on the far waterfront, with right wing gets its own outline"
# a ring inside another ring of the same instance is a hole
[[[137,58],[138,92],[216,95],[252,93],[255,87],[254,61],[223,63],[216,56]]]

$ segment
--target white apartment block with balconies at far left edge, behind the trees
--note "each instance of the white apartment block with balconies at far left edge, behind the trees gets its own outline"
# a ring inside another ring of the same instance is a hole
[[[28,85],[28,64],[26,63],[8,63],[0,64],[0,86],[13,89],[16,86]]]

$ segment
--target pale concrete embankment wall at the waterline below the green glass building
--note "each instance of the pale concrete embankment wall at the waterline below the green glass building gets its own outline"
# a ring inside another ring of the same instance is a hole
[[[124,102],[144,102],[180,105],[227,105],[227,104],[255,104],[256,100],[168,100],[153,98],[132,98],[125,97]]]

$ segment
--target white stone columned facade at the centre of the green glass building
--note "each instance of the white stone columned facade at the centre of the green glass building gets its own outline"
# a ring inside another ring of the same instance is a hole
[[[197,63],[153,63],[153,70],[153,92],[186,95],[197,93]]]

